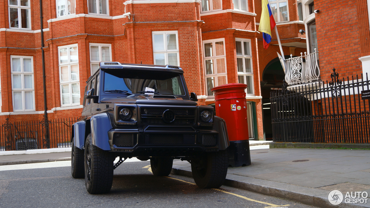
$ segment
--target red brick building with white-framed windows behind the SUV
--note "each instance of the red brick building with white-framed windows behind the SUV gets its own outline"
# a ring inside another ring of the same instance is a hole
[[[270,0],[285,55],[317,48],[321,80],[333,67],[370,72],[369,4]],[[270,137],[269,92],[284,72],[275,33],[263,49],[259,0],[42,0],[42,10],[48,118],[80,115],[100,61],[170,64],[200,104],[214,103],[212,87],[248,84],[248,137]],[[40,21],[39,1],[0,0],[1,123],[43,118]]]

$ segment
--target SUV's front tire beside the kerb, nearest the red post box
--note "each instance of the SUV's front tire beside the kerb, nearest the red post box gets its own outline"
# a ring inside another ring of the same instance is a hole
[[[218,188],[228,172],[228,153],[225,150],[202,154],[193,159],[191,171],[199,188]]]

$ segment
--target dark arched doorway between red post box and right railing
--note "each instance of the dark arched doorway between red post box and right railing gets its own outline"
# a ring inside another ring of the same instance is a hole
[[[285,58],[290,58],[286,56]],[[285,73],[279,58],[275,58],[267,64],[262,74],[261,94],[262,94],[262,122],[263,137],[265,140],[272,140],[271,125],[271,105],[270,92],[280,90]]]

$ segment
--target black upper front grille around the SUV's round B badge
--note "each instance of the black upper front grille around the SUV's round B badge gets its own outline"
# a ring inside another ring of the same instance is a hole
[[[168,125],[162,114],[165,110],[171,110],[175,114],[175,120],[170,124],[173,125],[192,125],[195,123],[194,108],[157,108],[157,107],[141,107],[140,118],[143,124],[152,125]]]

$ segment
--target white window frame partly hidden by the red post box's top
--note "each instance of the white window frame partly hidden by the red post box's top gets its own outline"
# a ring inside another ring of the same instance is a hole
[[[223,42],[223,55],[216,56],[216,42]],[[214,56],[206,57],[206,51],[205,51],[205,44],[212,43],[212,54]],[[217,87],[218,84],[218,77],[225,76],[226,78],[226,84],[228,83],[228,73],[227,73],[227,63],[226,63],[226,46],[225,46],[225,38],[219,38],[219,39],[212,39],[212,40],[204,40],[203,41],[203,67],[204,67],[204,78],[205,78],[205,85],[206,85],[206,95],[208,97],[214,97],[213,94],[208,94],[208,84],[207,84],[207,78],[214,77],[214,86]],[[217,73],[217,62],[216,59],[223,58],[225,60],[225,73]],[[206,61],[213,60],[213,74],[207,74],[206,69]]]

